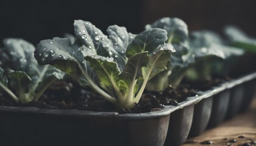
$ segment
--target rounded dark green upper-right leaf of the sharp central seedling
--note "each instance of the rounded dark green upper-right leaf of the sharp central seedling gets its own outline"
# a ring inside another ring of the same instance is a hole
[[[151,54],[158,46],[165,44],[166,40],[166,30],[157,28],[147,29],[138,34],[127,46],[126,57],[129,58],[135,54],[146,51]]]

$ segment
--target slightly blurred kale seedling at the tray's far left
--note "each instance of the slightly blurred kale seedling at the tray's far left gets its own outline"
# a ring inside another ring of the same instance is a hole
[[[37,63],[33,54],[35,47],[27,41],[8,38],[4,45],[0,54],[0,89],[15,102],[37,101],[52,82],[63,78],[59,69]]]

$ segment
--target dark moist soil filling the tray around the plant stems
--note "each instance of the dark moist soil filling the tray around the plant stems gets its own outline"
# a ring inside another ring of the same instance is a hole
[[[132,109],[116,109],[89,88],[82,88],[76,82],[55,82],[43,94],[38,102],[20,105],[5,93],[0,93],[0,105],[6,106],[35,106],[42,109],[79,109],[87,111],[117,111],[118,113],[147,113],[162,109],[164,105],[179,105],[187,97],[196,96],[196,90],[210,89],[224,80],[196,83],[195,85],[180,85],[177,88],[167,88],[163,92],[144,92],[140,102]],[[195,88],[196,90],[192,89]]]

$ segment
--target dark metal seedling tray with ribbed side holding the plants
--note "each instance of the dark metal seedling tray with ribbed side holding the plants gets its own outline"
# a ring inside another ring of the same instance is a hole
[[[245,111],[256,72],[141,114],[0,106],[0,145],[179,145]]]

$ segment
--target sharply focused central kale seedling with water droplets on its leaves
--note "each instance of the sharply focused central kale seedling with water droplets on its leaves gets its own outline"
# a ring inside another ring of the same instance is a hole
[[[109,26],[108,36],[88,21],[74,22],[76,39],[53,38],[37,45],[39,64],[52,64],[90,86],[118,108],[133,108],[148,80],[166,69],[174,52],[167,32],[148,29],[138,35]]]

